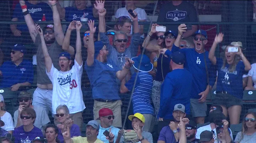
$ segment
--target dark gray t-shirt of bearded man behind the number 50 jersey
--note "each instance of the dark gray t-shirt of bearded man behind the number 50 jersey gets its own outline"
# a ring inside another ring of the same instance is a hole
[[[44,55],[43,55],[43,50],[42,50],[42,45],[41,45],[41,38],[40,35],[37,34],[34,45],[37,48],[37,83],[38,84],[52,84],[48,76],[46,75],[46,65],[44,62]],[[58,59],[59,59],[59,54],[63,52],[62,46],[58,44],[58,42],[55,40],[54,43],[50,46],[47,46],[49,56],[52,59],[53,65],[55,68],[60,70],[59,64],[58,64]]]

